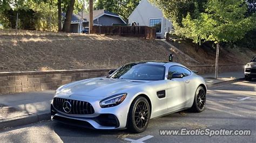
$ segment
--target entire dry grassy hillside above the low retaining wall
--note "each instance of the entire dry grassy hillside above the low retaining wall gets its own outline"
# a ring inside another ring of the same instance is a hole
[[[161,40],[105,35],[78,35],[54,32],[0,30],[0,71],[31,71],[57,69],[117,68],[134,61],[174,61],[183,65],[214,64],[213,49],[191,47],[189,43],[172,43],[181,51]],[[231,52],[226,56],[225,53]],[[248,49],[221,49],[220,63],[245,63],[251,59]],[[254,53],[255,54],[255,53]]]

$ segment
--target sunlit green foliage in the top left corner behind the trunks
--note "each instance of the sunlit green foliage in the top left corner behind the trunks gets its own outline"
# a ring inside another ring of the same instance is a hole
[[[87,0],[86,0],[87,1]],[[19,13],[18,28],[26,30],[56,31],[58,26],[58,0],[3,0],[0,1],[0,24],[15,28],[16,13]],[[70,0],[62,0],[66,12]],[[82,10],[83,0],[76,0],[74,13]]]

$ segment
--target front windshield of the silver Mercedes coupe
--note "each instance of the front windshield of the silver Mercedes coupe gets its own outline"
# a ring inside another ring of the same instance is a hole
[[[131,63],[117,69],[110,78],[126,80],[164,80],[165,67],[146,63]]]

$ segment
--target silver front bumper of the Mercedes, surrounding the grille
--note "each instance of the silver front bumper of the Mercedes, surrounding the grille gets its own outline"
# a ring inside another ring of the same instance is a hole
[[[119,130],[126,128],[127,114],[129,112],[130,100],[125,99],[123,103],[111,108],[100,108],[100,99],[72,95],[72,98],[67,95],[55,96],[64,99],[75,99],[86,101],[92,104],[95,112],[91,115],[70,115],[63,111],[57,110],[51,103],[51,119],[60,123],[98,130]]]

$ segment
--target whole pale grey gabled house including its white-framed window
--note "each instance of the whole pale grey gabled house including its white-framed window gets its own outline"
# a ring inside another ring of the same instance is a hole
[[[128,18],[132,26],[156,28],[157,38],[164,38],[165,32],[172,30],[172,23],[164,18],[163,12],[147,0],[142,0]]]

